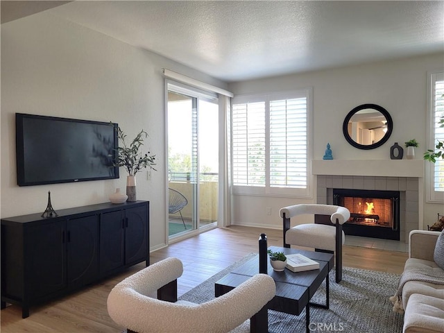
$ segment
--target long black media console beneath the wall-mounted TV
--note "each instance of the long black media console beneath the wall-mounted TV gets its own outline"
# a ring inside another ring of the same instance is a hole
[[[1,309],[29,307],[146,262],[149,202],[101,203],[1,219]]]

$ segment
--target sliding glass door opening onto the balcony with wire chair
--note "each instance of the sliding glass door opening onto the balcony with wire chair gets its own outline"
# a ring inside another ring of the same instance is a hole
[[[169,237],[216,223],[219,104],[216,96],[168,83]]]

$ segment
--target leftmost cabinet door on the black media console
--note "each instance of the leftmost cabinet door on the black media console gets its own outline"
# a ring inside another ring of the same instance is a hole
[[[33,300],[66,287],[66,221],[33,225],[27,232],[25,269]]]

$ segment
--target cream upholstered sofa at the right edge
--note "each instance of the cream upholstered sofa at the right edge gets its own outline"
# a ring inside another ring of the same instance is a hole
[[[425,275],[444,276],[443,268],[434,261],[435,244],[441,232],[413,230],[409,234],[409,259],[404,273],[424,271]],[[403,273],[403,274],[404,274]],[[442,283],[418,280],[405,282],[402,288],[405,333],[444,332],[444,278]],[[395,309],[402,312],[402,309]]]

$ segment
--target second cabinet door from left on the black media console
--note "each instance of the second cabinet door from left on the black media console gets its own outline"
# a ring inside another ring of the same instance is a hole
[[[99,216],[68,221],[67,277],[69,287],[82,286],[99,275]]]

